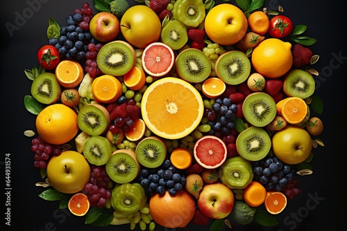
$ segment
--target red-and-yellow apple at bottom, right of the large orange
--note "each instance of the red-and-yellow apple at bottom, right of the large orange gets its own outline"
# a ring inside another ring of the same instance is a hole
[[[198,208],[212,219],[223,219],[234,207],[235,196],[232,190],[223,183],[212,183],[203,186],[198,197]]]

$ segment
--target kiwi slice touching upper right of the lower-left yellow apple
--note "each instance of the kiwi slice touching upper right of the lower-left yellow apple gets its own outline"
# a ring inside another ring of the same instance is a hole
[[[83,155],[92,165],[105,165],[112,154],[112,146],[103,136],[91,136],[85,141]]]

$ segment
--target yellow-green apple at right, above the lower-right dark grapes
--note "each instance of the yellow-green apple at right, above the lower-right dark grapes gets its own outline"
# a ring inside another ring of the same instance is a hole
[[[311,154],[312,138],[302,127],[287,125],[272,137],[273,154],[283,163],[296,165]]]

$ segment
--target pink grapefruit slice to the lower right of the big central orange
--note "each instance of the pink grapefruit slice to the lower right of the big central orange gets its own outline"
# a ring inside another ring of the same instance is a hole
[[[226,161],[226,144],[216,136],[203,136],[194,145],[196,162],[206,169],[215,169]]]

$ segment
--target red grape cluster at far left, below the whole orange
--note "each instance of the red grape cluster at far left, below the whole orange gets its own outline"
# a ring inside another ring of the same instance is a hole
[[[52,145],[37,136],[31,140],[31,151],[34,154],[34,167],[45,169],[51,156],[59,156],[62,150],[59,145]]]

